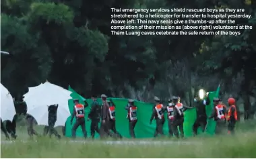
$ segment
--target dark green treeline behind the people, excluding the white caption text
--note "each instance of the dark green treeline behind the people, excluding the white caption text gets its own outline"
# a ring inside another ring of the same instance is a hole
[[[243,8],[241,36],[110,36],[111,7]],[[150,101],[179,95],[191,104],[200,88],[242,99],[253,112],[256,82],[255,1],[3,0],[1,83],[13,97],[48,80],[84,97],[105,93]]]

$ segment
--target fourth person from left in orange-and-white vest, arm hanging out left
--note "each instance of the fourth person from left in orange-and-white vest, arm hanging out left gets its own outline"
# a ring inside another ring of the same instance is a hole
[[[164,125],[164,105],[160,103],[160,99],[158,97],[154,97],[155,105],[153,107],[152,115],[150,118],[150,124],[152,124],[152,120],[156,119],[156,131],[154,133],[154,138],[160,134],[164,136],[163,133],[163,125]]]

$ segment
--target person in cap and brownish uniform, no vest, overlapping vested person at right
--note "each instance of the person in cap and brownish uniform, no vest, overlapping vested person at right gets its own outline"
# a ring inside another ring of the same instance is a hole
[[[113,136],[113,134],[110,133],[109,131],[109,105],[108,102],[106,101],[106,95],[102,94],[101,96],[102,99],[102,107],[100,111],[100,119],[101,119],[101,124],[100,124],[100,138],[104,138],[105,136]]]

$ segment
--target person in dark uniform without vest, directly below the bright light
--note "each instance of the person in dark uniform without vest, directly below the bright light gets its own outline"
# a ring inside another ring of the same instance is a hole
[[[201,127],[203,131],[205,131],[205,126],[207,124],[207,115],[205,106],[210,104],[209,97],[205,97],[205,99],[200,99],[198,96],[194,98],[194,105],[197,111],[197,119],[193,125],[194,135],[197,135],[197,129]]]

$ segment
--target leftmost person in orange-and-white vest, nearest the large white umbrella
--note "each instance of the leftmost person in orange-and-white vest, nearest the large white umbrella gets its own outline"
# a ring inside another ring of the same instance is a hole
[[[76,121],[72,128],[72,138],[75,138],[75,132],[76,132],[77,127],[79,127],[79,126],[81,126],[81,128],[82,128],[82,131],[84,133],[84,138],[87,138],[86,120],[84,119],[84,116],[85,116],[84,109],[86,107],[88,107],[88,103],[86,101],[84,101],[84,102],[85,102],[85,105],[82,105],[79,103],[78,99],[73,100],[73,103],[75,105],[73,108],[73,114],[71,116],[71,121],[70,121],[71,125],[72,125],[72,121],[73,121],[74,117],[76,117]]]

